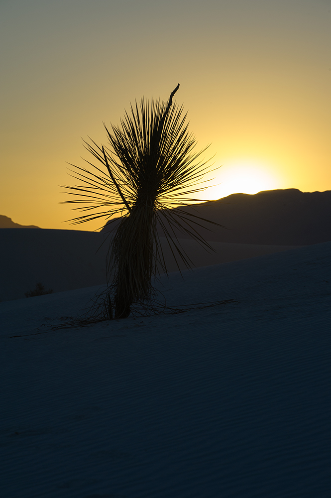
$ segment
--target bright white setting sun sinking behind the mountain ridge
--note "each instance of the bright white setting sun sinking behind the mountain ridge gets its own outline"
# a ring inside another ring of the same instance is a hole
[[[256,194],[261,190],[281,188],[274,169],[254,160],[231,161],[214,173],[212,186],[201,193],[200,197],[205,200],[220,199],[237,192]]]

